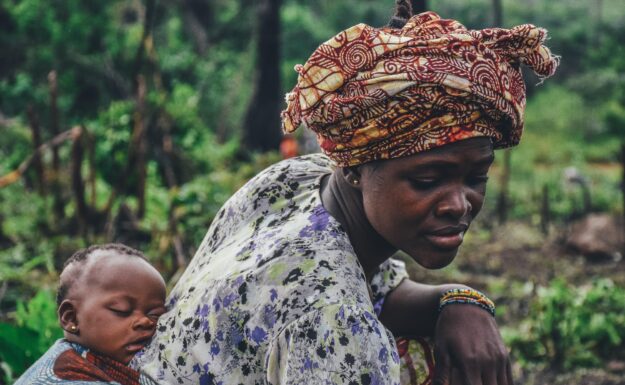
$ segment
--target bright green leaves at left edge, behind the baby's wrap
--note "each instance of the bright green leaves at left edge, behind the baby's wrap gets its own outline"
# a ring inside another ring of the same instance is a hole
[[[56,302],[49,291],[39,291],[28,303],[19,302],[15,323],[0,323],[0,368],[7,383],[19,377],[57,339]],[[10,369],[9,369],[10,368]]]

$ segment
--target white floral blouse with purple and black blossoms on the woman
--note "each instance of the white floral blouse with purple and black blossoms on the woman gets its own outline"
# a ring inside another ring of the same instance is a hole
[[[389,260],[371,286],[321,204],[320,154],[277,163],[221,208],[134,367],[163,384],[398,384],[374,310],[407,276]]]

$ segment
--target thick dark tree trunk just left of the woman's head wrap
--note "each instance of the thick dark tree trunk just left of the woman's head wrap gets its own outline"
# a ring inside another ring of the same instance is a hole
[[[280,145],[280,6],[282,0],[262,0],[258,8],[256,82],[243,138],[251,150],[277,150]]]

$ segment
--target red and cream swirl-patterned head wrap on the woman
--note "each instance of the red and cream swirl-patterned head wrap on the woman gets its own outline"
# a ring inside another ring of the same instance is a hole
[[[298,65],[283,129],[317,134],[339,166],[412,155],[477,136],[495,148],[523,131],[525,85],[519,64],[542,78],[558,58],[531,24],[467,30],[434,12],[402,29],[351,27]]]

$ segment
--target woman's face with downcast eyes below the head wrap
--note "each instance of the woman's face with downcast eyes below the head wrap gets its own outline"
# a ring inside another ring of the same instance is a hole
[[[447,266],[482,208],[493,160],[490,139],[473,138],[362,166],[367,218],[420,265]]]

